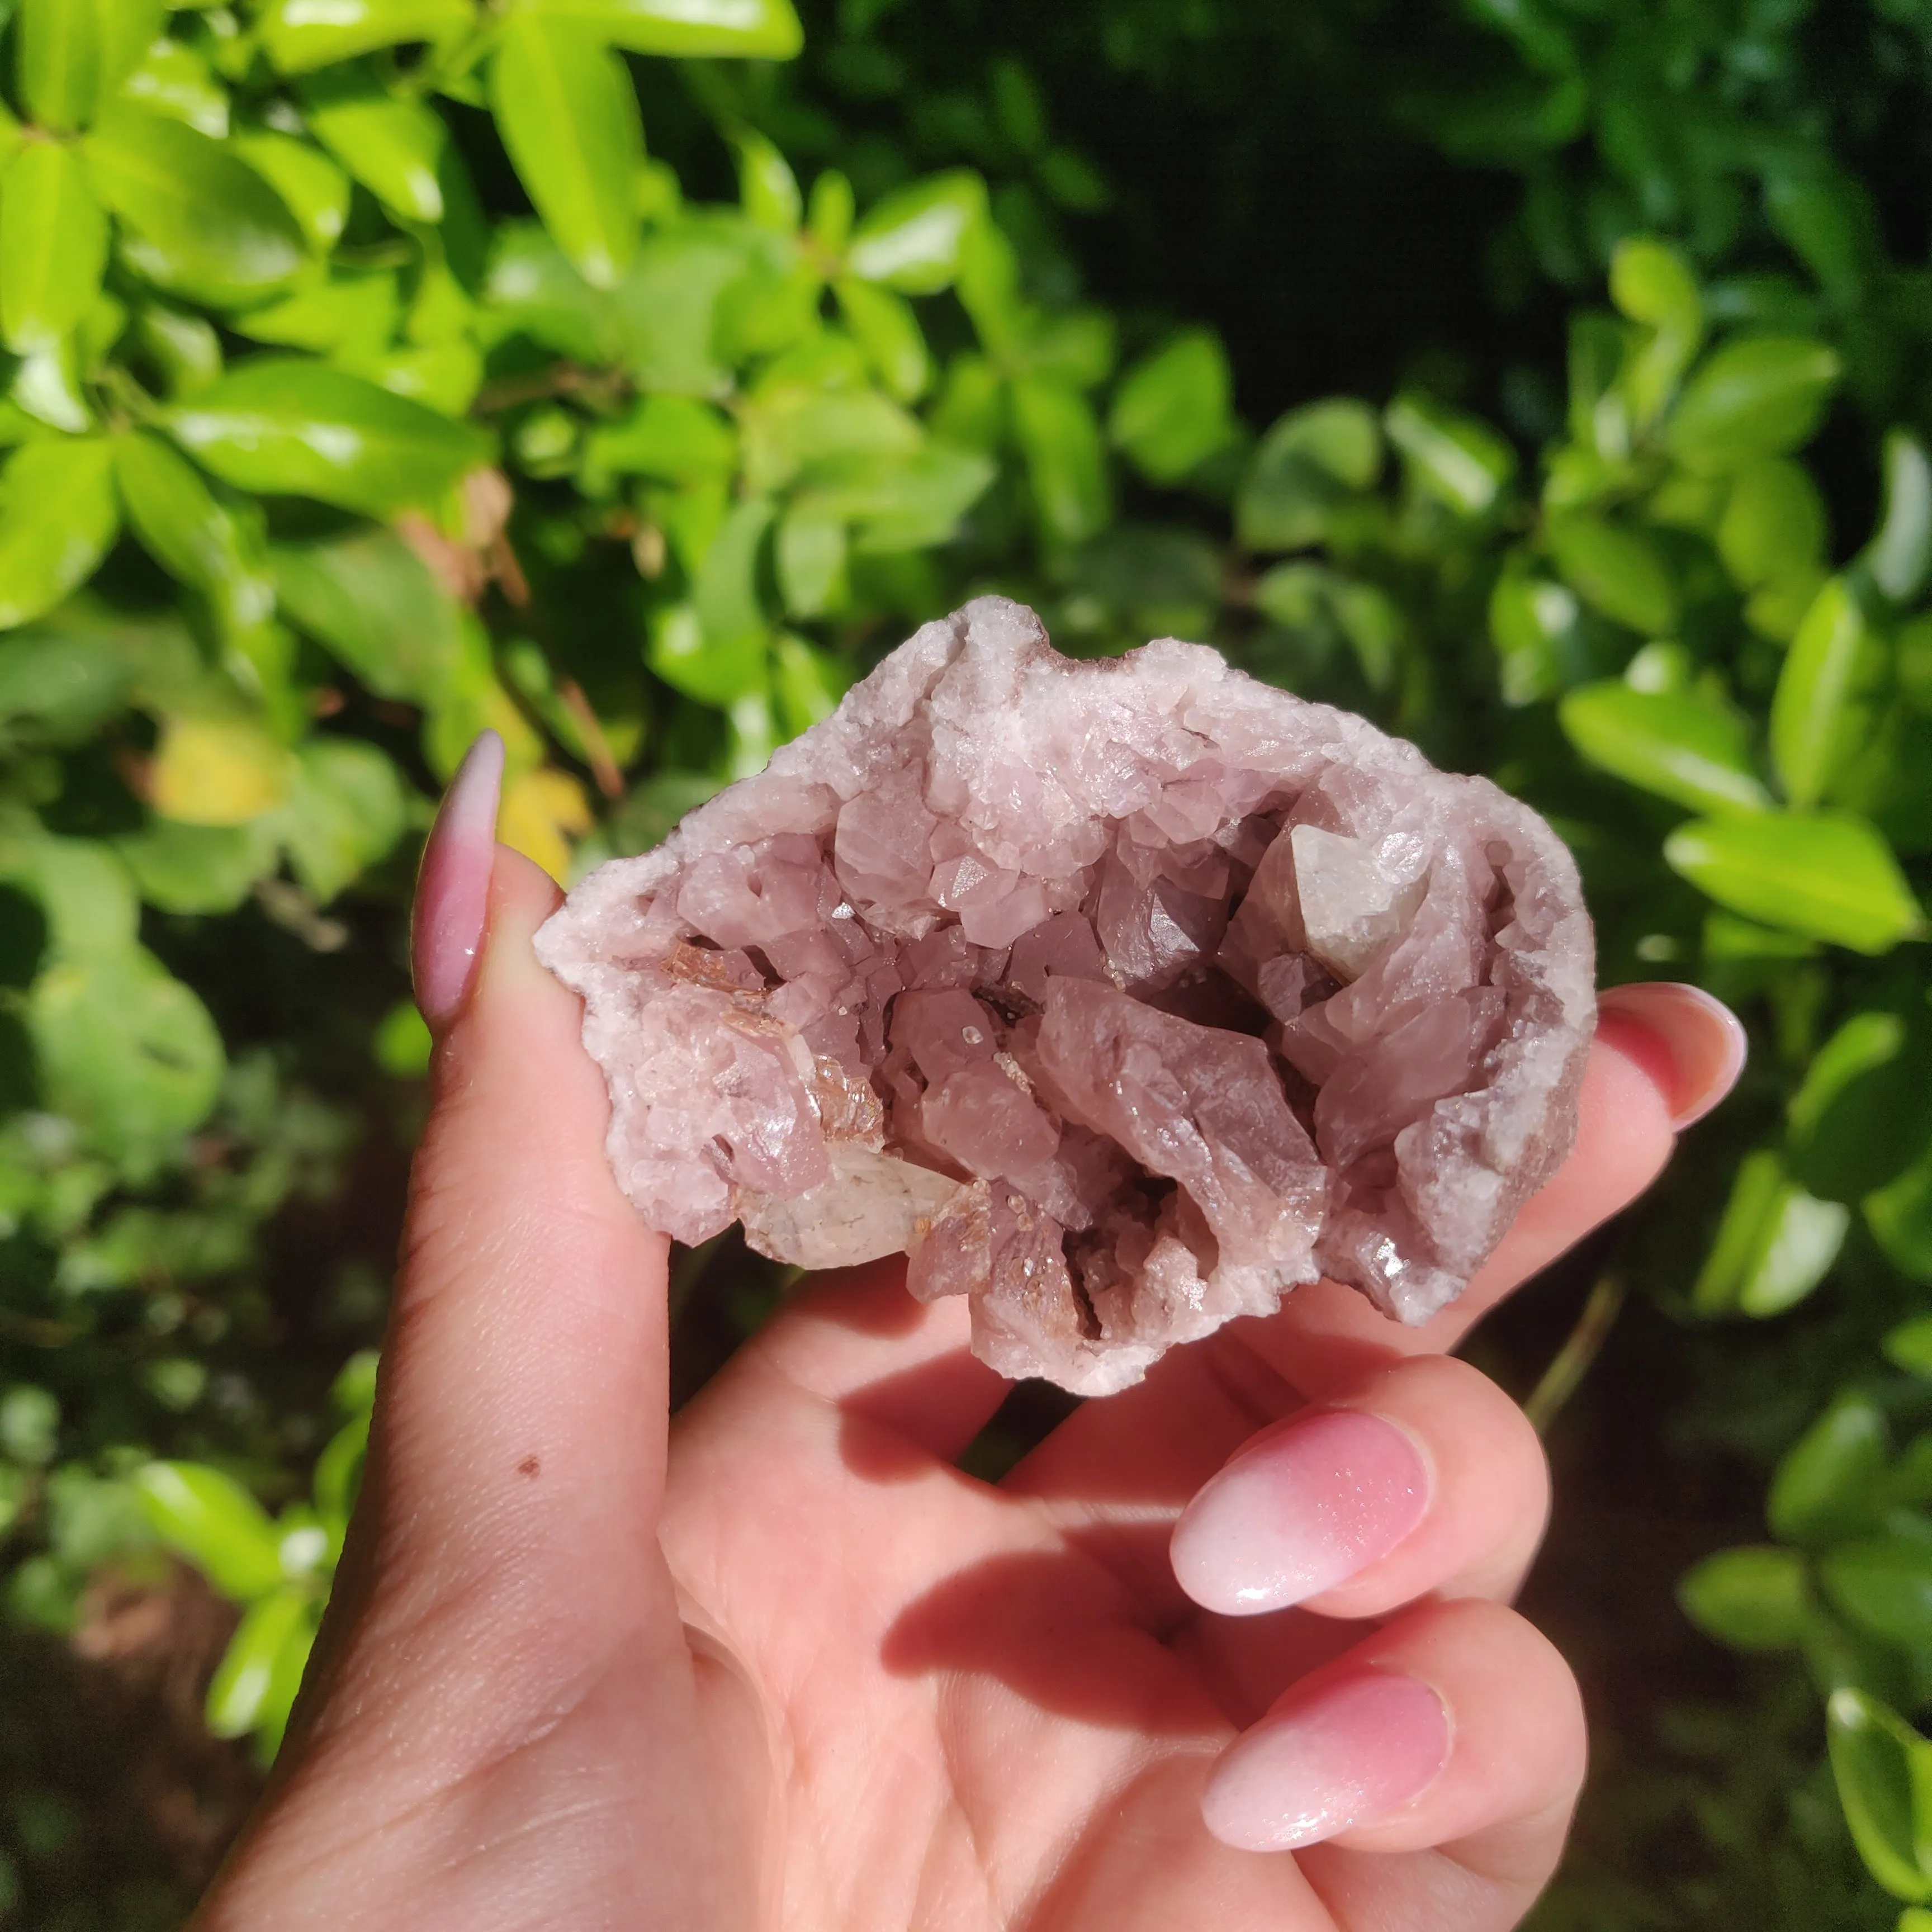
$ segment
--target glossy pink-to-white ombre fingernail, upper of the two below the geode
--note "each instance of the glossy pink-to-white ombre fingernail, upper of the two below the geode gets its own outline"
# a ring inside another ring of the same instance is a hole
[[[1298,1416],[1180,1513],[1175,1577],[1229,1617],[1285,1609],[1385,1557],[1428,1507],[1428,1466],[1393,1422],[1358,1408]]]

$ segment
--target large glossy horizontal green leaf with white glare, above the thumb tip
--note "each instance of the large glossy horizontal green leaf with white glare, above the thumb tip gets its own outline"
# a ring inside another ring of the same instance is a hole
[[[263,355],[164,412],[162,427],[236,489],[390,516],[485,462],[489,439],[321,363]]]

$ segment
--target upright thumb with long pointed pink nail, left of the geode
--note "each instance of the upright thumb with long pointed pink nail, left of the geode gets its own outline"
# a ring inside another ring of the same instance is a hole
[[[500,763],[485,734],[423,854],[435,1105],[373,1441],[381,1567],[439,1594],[582,1563],[655,1519],[665,1470],[667,1244],[605,1159],[580,1003],[531,951],[556,887],[491,837]]]

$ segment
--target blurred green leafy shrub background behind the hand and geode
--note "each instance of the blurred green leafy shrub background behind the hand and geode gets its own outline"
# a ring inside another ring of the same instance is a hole
[[[1745,1014],[1470,1350],[1534,1924],[1932,1928],[1928,0],[0,19],[0,1922],[178,1924],[272,1756],[471,736],[570,879],[1001,589],[1492,773]],[[777,1291],[680,1262],[682,1389]]]

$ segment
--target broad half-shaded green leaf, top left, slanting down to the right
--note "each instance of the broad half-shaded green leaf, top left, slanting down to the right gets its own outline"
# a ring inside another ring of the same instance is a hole
[[[226,143],[122,106],[100,118],[83,155],[95,193],[131,230],[128,259],[158,286],[230,307],[301,269],[296,216]]]

